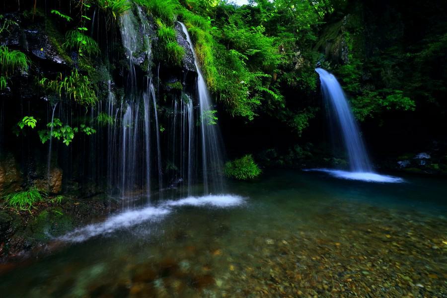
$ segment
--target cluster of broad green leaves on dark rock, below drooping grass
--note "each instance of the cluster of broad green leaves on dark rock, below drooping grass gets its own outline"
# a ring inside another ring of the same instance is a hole
[[[74,135],[79,131],[83,132],[87,136],[96,133],[96,130],[92,127],[88,127],[85,124],[80,124],[78,127],[71,127],[69,125],[63,125],[62,121],[58,118],[53,119],[53,122],[47,124],[46,130],[40,130],[39,138],[42,144],[45,144],[51,138],[56,138],[58,140],[62,139],[62,143],[69,146],[74,139]]]

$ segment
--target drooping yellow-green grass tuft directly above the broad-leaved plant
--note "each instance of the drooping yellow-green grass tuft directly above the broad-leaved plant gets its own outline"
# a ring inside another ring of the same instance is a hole
[[[39,81],[39,85],[46,92],[59,95],[59,97],[65,94],[67,98],[73,98],[81,105],[92,105],[98,100],[91,81],[86,75],[79,74],[76,69],[64,78],[62,74],[54,80],[44,77]]]

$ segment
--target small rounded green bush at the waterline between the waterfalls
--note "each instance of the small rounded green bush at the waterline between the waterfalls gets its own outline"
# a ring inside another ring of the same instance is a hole
[[[224,175],[238,180],[254,179],[261,172],[261,169],[253,160],[251,154],[247,154],[233,161],[227,161],[224,165]]]

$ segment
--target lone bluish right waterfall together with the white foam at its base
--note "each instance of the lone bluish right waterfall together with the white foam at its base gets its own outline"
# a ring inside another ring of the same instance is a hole
[[[370,158],[365,149],[365,144],[360,136],[360,130],[354,115],[346,99],[345,93],[333,74],[317,68],[320,75],[321,91],[328,105],[331,116],[337,121],[341,130],[343,142],[349,158],[351,171],[323,169],[330,174],[352,180],[364,180],[373,182],[400,182],[402,179],[391,176],[379,175],[373,172]]]

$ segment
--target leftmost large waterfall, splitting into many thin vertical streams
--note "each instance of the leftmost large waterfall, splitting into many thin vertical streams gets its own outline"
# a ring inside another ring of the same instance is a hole
[[[149,198],[152,166],[150,122],[154,119],[158,130],[158,115],[150,73],[149,21],[141,9],[135,7],[120,16],[119,24],[129,65],[125,77],[124,96],[115,98],[110,81],[108,86],[109,96],[105,113],[113,119],[113,122],[108,123],[107,126],[107,185],[111,190],[110,194],[120,194],[123,204],[128,204],[130,207],[131,198],[142,195],[141,191],[144,192],[146,198]],[[143,70],[144,75],[137,74],[136,67],[141,66],[144,60],[148,61],[148,67]],[[142,85],[145,87],[141,88]],[[151,105],[153,105],[153,111]],[[158,132],[156,141],[157,172],[161,189],[161,148]]]

